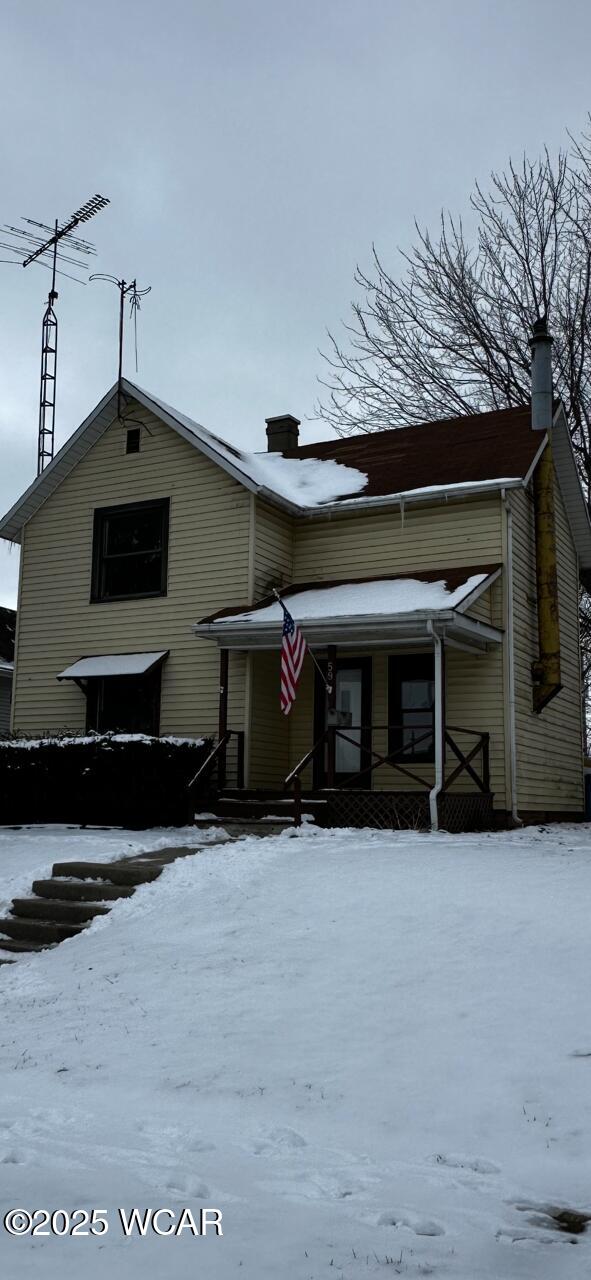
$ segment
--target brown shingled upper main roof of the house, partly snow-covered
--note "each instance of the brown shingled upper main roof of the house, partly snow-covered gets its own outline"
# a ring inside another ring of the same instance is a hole
[[[530,408],[426,422],[298,447],[284,457],[252,453],[214,435],[159,397],[123,379],[123,392],[252,493],[299,516],[331,516],[384,504],[448,500],[528,483],[546,436]],[[116,415],[113,387],[52,462],[0,520],[0,536],[20,541],[23,525],[86,456]],[[555,466],[579,566],[591,575],[591,524],[562,406],[554,421]]]

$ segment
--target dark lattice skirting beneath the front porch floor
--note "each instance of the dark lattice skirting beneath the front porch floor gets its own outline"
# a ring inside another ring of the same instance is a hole
[[[326,827],[379,827],[384,831],[429,831],[429,795],[416,791],[322,791],[327,801]],[[444,831],[490,831],[494,827],[492,796],[443,795],[439,824]]]

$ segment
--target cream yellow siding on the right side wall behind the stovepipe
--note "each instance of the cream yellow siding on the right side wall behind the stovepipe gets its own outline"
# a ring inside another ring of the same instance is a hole
[[[578,648],[577,557],[555,486],[563,689],[540,714],[532,710],[531,664],[537,657],[536,553],[530,492],[513,492],[517,799],[527,812],[583,809],[582,705]]]

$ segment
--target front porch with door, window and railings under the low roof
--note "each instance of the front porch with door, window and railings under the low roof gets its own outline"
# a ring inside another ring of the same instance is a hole
[[[248,788],[253,803],[266,803],[270,812],[289,808],[297,823],[311,803],[322,801],[316,817],[330,826],[466,831],[495,824],[495,791],[504,809],[503,635],[496,627],[449,609],[388,622],[382,616],[302,620],[311,653],[285,717],[280,626],[271,628],[270,620],[257,617],[261,612],[243,616],[248,632],[232,614],[209,625],[220,644],[220,794],[230,783],[237,803]],[[205,634],[203,626],[196,630]],[[335,643],[326,643],[327,634]],[[247,654],[243,736],[228,723],[233,650]]]

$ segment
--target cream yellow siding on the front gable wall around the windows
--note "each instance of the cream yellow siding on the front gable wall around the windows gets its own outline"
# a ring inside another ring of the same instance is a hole
[[[197,640],[198,618],[248,598],[248,492],[159,419],[138,454],[124,453],[114,422],[24,530],[15,730],[84,727],[81,690],[58,672],[84,654],[169,649],[162,671],[162,733],[217,726],[219,654]],[[168,594],[90,603],[96,507],[170,498]],[[244,723],[244,664],[230,658],[229,723]]]

